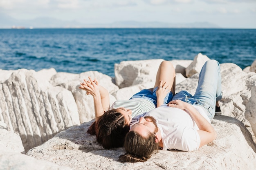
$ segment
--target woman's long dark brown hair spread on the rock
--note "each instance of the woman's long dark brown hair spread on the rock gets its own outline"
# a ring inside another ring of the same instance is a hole
[[[117,109],[107,110],[88,129],[88,133],[96,135],[97,141],[103,148],[118,148],[124,146],[126,133],[130,126],[126,124],[124,116]]]

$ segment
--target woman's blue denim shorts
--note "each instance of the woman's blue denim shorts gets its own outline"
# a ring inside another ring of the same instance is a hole
[[[156,107],[157,106],[157,95],[156,95],[157,88],[158,87],[155,87],[153,91],[150,91],[149,89],[143,89],[139,93],[136,93],[135,95],[133,95],[130,99],[133,99],[133,98],[147,99],[150,102],[153,102],[153,104]],[[168,104],[169,102],[171,102],[172,98],[173,98],[173,93],[172,92],[168,93],[164,98],[164,104]]]

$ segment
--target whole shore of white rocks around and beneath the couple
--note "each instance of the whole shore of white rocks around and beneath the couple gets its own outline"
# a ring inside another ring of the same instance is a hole
[[[198,72],[209,60],[172,60],[176,92],[195,92]],[[86,133],[94,119],[92,97],[79,83],[96,77],[110,92],[110,104],[151,88],[163,60],[115,64],[115,77],[97,71],[57,73],[0,70],[0,170],[5,169],[256,169],[256,60],[242,70],[233,63],[221,66],[222,115],[212,121],[218,137],[194,152],[159,150],[144,163],[121,163],[123,148],[103,149]]]

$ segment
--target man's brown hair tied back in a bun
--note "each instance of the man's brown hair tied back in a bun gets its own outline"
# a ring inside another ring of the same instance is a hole
[[[158,149],[155,134],[149,132],[148,137],[142,137],[135,131],[127,133],[124,148],[126,153],[119,157],[122,162],[145,162]]]

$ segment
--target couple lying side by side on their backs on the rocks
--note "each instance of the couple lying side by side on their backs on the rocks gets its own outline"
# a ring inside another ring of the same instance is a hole
[[[144,162],[158,149],[193,151],[216,138],[211,119],[216,101],[222,98],[216,60],[202,67],[194,95],[175,94],[175,69],[168,61],[160,64],[154,88],[117,100],[111,107],[109,93],[97,79],[84,79],[79,88],[94,100],[95,122],[88,132],[103,148],[124,146],[120,161]]]

